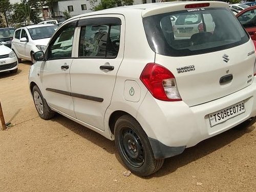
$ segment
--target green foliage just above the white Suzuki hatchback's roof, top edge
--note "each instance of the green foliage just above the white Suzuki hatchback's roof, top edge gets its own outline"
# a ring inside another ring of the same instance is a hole
[[[90,0],[90,5],[93,7],[93,11],[99,11],[102,9],[109,9],[119,6],[133,5],[133,0],[101,0],[99,5],[94,6],[97,0]]]

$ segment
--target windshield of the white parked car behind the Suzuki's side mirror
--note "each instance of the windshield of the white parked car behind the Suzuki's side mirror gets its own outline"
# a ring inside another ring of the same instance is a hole
[[[57,26],[45,26],[29,29],[29,34],[33,40],[50,38],[56,31]]]

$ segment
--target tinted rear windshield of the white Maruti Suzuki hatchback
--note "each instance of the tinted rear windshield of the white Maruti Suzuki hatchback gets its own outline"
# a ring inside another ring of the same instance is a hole
[[[150,47],[166,56],[188,56],[244,44],[249,36],[228,8],[193,9],[143,18]]]

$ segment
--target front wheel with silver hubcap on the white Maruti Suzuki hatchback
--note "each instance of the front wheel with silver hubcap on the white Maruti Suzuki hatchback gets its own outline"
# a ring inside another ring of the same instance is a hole
[[[51,119],[54,116],[55,112],[50,109],[37,86],[33,87],[32,95],[38,115],[45,120]]]

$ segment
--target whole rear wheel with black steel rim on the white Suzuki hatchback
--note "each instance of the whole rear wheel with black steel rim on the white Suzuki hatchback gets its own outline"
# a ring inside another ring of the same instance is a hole
[[[136,119],[130,115],[118,118],[114,135],[118,153],[132,173],[145,177],[162,167],[164,159],[154,158],[150,141]]]

